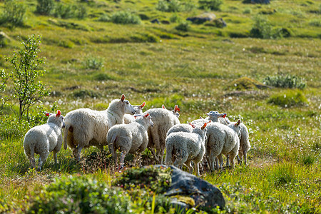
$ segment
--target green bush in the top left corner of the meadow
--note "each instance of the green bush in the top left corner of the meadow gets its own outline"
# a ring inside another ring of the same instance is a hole
[[[23,26],[26,7],[23,3],[16,0],[4,1],[4,11],[1,14],[0,24],[6,24],[10,27]]]

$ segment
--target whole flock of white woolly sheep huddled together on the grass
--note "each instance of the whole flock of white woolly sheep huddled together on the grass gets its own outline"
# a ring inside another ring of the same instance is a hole
[[[179,108],[173,111],[162,108],[151,108],[143,113],[143,102],[132,106],[125,96],[111,101],[105,111],[94,111],[80,108],[61,116],[61,111],[46,113],[49,116],[46,124],[31,128],[24,138],[24,151],[31,166],[36,167],[34,154],[39,154],[38,170],[46,162],[49,153],[57,153],[63,148],[71,148],[76,160],[80,160],[81,151],[89,146],[103,150],[108,146],[116,167],[123,168],[126,154],[134,155],[136,165],[141,153],[148,148],[156,163],[165,163],[177,167],[187,166],[190,173],[195,170],[199,176],[201,162],[207,161],[210,170],[226,165],[234,167],[234,159],[242,163],[243,156],[247,164],[247,152],[250,149],[248,128],[240,120],[230,122],[226,113],[210,111],[207,118],[200,118],[190,123],[180,123]],[[62,137],[61,129],[64,128]],[[117,151],[121,152],[118,165]]]

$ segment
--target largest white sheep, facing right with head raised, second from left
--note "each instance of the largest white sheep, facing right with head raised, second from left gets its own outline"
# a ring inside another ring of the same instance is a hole
[[[83,148],[97,146],[103,150],[103,146],[107,145],[108,130],[115,124],[122,124],[125,113],[136,113],[131,103],[125,100],[125,95],[120,100],[111,101],[105,111],[80,108],[67,113],[63,148],[67,149],[68,145],[78,161]]]

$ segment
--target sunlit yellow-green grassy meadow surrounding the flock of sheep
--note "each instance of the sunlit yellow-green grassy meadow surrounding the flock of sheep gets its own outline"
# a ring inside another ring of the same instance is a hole
[[[220,212],[321,213],[320,1],[225,0],[220,11],[211,12],[227,27],[190,23],[188,31],[175,29],[180,21],[171,17],[183,21],[202,14],[198,1],[181,1],[190,9],[175,13],[158,11],[157,0],[62,1],[83,6],[87,16],[81,19],[39,15],[37,1],[21,2],[23,24],[1,22],[0,31],[9,39],[0,38],[0,68],[11,71],[5,57],[21,48],[19,38],[41,35],[46,73],[39,79],[52,87],[51,96],[42,100],[44,108],[56,105],[63,115],[76,108],[104,110],[124,93],[132,104],[146,101],[145,109],[178,104],[181,123],[211,110],[228,113],[248,127],[252,148],[248,166],[201,175],[222,190],[227,205]],[[4,10],[0,1],[0,14]],[[117,11],[139,15],[141,24],[112,23]],[[290,36],[250,38],[258,14],[272,30],[287,29]],[[163,24],[152,24],[153,19]],[[238,87],[242,78],[262,85],[268,76],[282,73],[303,78],[306,87]],[[1,97],[12,93],[12,82],[7,85]],[[300,102],[292,104],[296,98]],[[19,123],[18,106],[12,109],[2,106],[0,114],[0,213],[26,212],[39,188],[55,178],[84,175],[111,185],[111,166],[88,163],[97,148],[83,151],[81,163],[70,150],[61,150],[58,165],[49,156],[44,170],[31,170],[22,145],[34,123]],[[38,111],[34,107],[31,114]],[[37,123],[46,118],[41,120]],[[152,208],[145,213],[153,213]]]

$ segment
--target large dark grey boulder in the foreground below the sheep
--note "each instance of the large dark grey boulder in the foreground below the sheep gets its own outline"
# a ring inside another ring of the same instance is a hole
[[[161,165],[156,165],[160,167]],[[162,165],[168,167],[167,165]],[[172,183],[170,188],[166,190],[165,196],[188,196],[195,201],[195,207],[202,208],[215,208],[219,206],[224,208],[225,200],[222,193],[214,185],[202,180],[195,175],[184,172],[173,165],[169,166],[172,172]],[[173,204],[178,204],[180,207],[184,207],[185,202],[178,203],[177,200],[173,201]],[[185,203],[186,204],[186,203]]]

